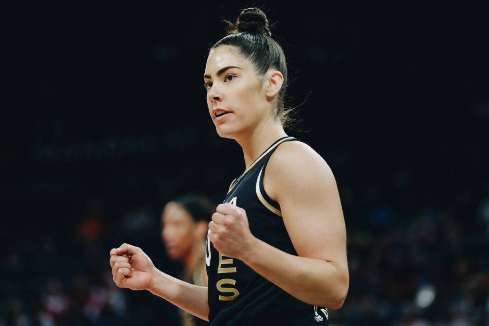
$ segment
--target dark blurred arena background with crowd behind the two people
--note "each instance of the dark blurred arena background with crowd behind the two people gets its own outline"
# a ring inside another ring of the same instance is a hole
[[[1,326],[178,325],[173,305],[114,285],[109,251],[134,244],[177,275],[163,205],[217,205],[244,171],[202,75],[221,18],[261,5],[304,119],[288,134],[342,200],[350,289],[331,325],[488,325],[482,5],[50,0],[3,10]]]

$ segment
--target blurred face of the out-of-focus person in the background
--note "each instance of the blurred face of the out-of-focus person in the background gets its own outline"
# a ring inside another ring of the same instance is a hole
[[[192,250],[195,242],[195,222],[180,204],[170,202],[161,215],[161,237],[168,256],[180,259]]]

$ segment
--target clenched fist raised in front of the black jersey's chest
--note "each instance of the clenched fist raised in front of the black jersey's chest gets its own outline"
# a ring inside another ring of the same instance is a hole
[[[246,211],[230,203],[219,204],[209,222],[209,240],[223,256],[241,259],[252,246]]]

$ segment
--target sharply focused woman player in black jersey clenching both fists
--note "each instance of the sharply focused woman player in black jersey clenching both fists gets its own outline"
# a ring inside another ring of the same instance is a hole
[[[209,222],[208,287],[158,271],[129,244],[110,252],[114,282],[212,326],[329,325],[349,287],[336,181],[314,149],[284,132],[287,66],[266,15],[249,8],[229,24],[209,51],[204,82],[216,131],[241,146],[246,168]],[[225,153],[219,162],[226,168]]]

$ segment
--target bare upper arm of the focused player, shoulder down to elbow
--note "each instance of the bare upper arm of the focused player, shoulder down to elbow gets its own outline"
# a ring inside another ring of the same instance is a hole
[[[286,142],[270,157],[265,178],[297,254],[328,261],[347,275],[343,209],[326,161],[302,142]]]

